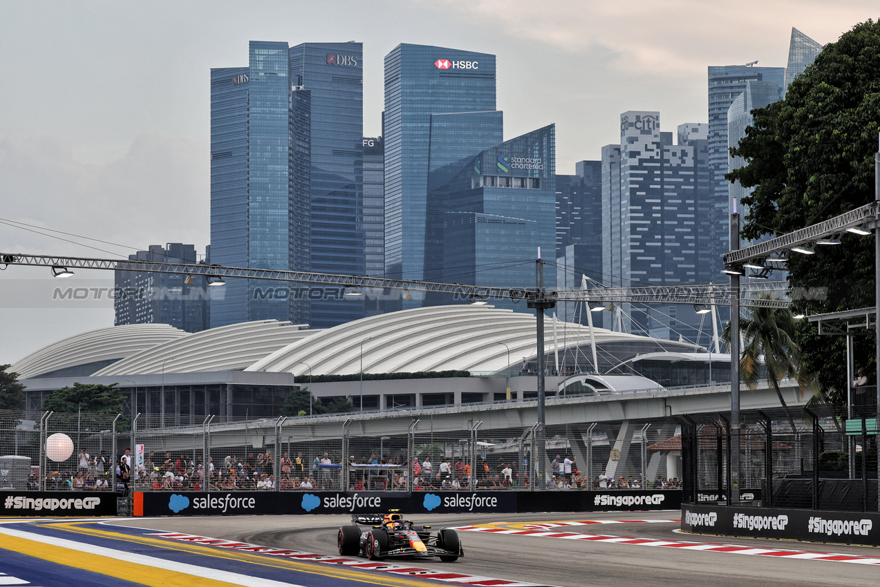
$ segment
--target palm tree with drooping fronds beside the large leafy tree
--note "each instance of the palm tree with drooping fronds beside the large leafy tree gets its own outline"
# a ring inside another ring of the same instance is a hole
[[[759,299],[775,300],[773,294],[760,294]],[[813,388],[814,381],[803,369],[801,349],[794,340],[795,318],[788,308],[750,307],[739,318],[739,332],[743,347],[739,356],[739,373],[743,382],[754,390],[758,384],[759,364],[764,359],[766,378],[779,397],[782,408],[788,413],[788,405],[779,388],[782,379],[795,379],[804,388]],[[730,322],[724,325],[724,341],[730,344]],[[792,431],[795,424],[788,417]]]

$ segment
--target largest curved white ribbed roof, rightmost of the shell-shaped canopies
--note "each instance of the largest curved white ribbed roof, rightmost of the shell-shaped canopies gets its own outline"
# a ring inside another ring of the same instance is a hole
[[[395,373],[461,370],[498,373],[536,356],[535,316],[492,306],[435,306],[370,316],[319,331],[253,363],[246,371],[312,374]],[[545,351],[586,348],[586,326],[545,322]],[[693,345],[595,329],[597,346],[653,343],[691,350]],[[510,348],[510,365],[508,348]],[[362,346],[363,345],[363,346]],[[363,348],[363,356],[362,356]],[[587,353],[589,355],[589,352]],[[362,368],[363,362],[363,368]],[[586,363],[587,361],[584,360]],[[614,361],[615,363],[618,361]]]

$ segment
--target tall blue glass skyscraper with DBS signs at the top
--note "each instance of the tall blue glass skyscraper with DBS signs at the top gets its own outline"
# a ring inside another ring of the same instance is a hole
[[[363,275],[363,47],[251,41],[211,69],[211,254],[217,265]],[[211,324],[363,316],[341,289],[231,279]]]

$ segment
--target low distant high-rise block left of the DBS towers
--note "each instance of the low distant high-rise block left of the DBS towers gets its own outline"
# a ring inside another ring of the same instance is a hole
[[[129,255],[131,261],[152,263],[198,263],[192,244],[168,243],[150,245]],[[115,320],[122,324],[171,324],[187,332],[209,328],[210,295],[223,295],[219,288],[209,287],[202,276],[188,277],[180,273],[114,272]]]

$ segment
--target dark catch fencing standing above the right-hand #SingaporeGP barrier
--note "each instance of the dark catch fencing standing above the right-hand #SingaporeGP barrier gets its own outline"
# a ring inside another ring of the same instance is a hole
[[[876,413],[876,411],[875,411]],[[728,414],[682,418],[687,504],[751,503],[766,508],[877,511],[876,420],[843,410],[744,412],[739,499],[732,496],[735,444]]]

